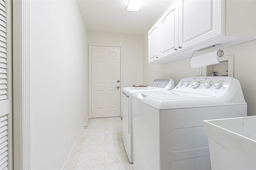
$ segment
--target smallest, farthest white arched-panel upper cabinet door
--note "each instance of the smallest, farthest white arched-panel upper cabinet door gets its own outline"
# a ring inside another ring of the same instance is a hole
[[[148,31],[148,63],[158,59],[159,53],[159,24]]]

